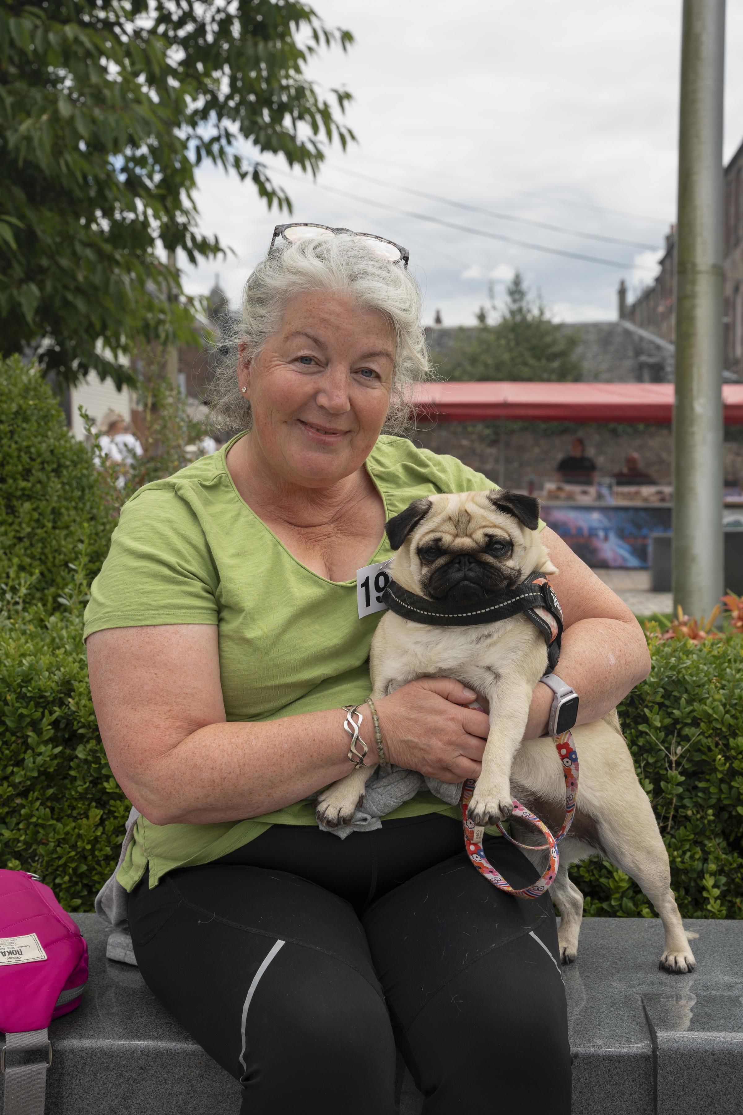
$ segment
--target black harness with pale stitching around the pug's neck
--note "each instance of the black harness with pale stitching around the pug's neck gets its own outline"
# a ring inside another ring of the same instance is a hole
[[[397,581],[390,581],[382,602],[391,612],[430,627],[473,627],[477,623],[497,623],[524,612],[544,636],[547,643],[547,673],[557,666],[563,640],[563,612],[551,584],[544,573],[535,571],[514,589],[504,589],[495,597],[486,597],[471,604],[449,604],[427,600],[408,592]]]

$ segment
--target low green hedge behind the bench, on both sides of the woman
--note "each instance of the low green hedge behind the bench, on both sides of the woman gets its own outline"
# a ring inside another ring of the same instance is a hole
[[[663,832],[682,913],[743,917],[743,638],[651,641],[653,670],[620,708]],[[0,621],[0,865],[33,871],[89,910],[118,856],[128,803],[106,762],[81,620]],[[653,917],[622,872],[574,870],[586,913]]]

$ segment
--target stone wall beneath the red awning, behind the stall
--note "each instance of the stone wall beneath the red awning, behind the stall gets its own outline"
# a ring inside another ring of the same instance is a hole
[[[440,423],[420,427],[413,440],[434,453],[450,453],[466,465],[485,473],[493,481],[499,476],[498,423]],[[641,466],[658,483],[672,479],[672,437],[669,426],[646,426],[638,430],[623,427],[560,426],[550,430],[546,425],[526,423],[505,425],[505,477],[507,487],[526,488],[534,477],[536,488],[555,478],[560,457],[570,450],[575,436],[583,437],[586,453],[593,457],[599,476],[610,476],[624,465],[628,453],[638,453]],[[725,443],[725,476],[743,484],[743,442]]]

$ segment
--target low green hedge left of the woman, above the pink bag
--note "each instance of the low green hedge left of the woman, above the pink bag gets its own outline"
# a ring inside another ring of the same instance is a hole
[[[129,806],[90,700],[82,621],[40,610],[0,620],[0,866],[40,875],[91,910]]]

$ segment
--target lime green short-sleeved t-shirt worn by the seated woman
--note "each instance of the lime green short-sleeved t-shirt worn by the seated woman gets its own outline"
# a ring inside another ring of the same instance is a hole
[[[225,462],[234,440],[129,500],[90,590],[85,638],[104,628],[216,624],[227,720],[361,704],[371,690],[369,647],[382,613],[360,620],[355,580],[313,573],[251,511]],[[454,457],[400,437],[380,437],[366,469],[385,518],[421,496],[496,487]],[[384,535],[368,564],[391,556]],[[458,816],[420,793],[389,818],[433,812]],[[117,878],[131,890],[149,866],[155,886],[166,872],[226,855],[272,824],[314,825],[314,803],[216,824],[155,825],[139,817]]]

